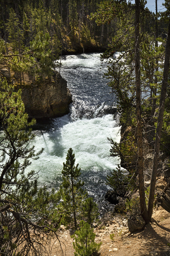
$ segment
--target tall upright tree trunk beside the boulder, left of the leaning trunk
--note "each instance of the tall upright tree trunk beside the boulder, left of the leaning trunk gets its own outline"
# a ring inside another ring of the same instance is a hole
[[[141,86],[140,86],[140,54],[139,54],[139,21],[140,21],[140,0],[135,0],[135,85],[136,85],[136,112],[137,112],[137,173],[139,175],[139,195],[141,215],[145,222],[148,222],[148,213],[145,203],[144,192],[144,167],[143,167],[143,140],[141,122]]]

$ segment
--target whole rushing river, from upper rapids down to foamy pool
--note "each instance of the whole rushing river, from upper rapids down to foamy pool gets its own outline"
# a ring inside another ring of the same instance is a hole
[[[48,125],[39,128],[32,143],[37,150],[43,147],[44,152],[30,167],[40,170],[40,186],[45,184],[57,190],[62,181],[63,162],[71,147],[81,168],[84,188],[99,204],[100,212],[111,207],[104,200],[109,188],[106,177],[120,162],[108,157],[107,137],[119,142],[120,127],[113,115],[115,103],[108,81],[103,78],[104,71],[99,53],[63,56],[61,75],[67,80],[73,103],[68,115],[51,119]]]

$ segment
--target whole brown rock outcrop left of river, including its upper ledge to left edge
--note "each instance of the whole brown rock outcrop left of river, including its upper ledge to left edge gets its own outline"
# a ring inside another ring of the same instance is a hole
[[[69,113],[69,104],[72,102],[67,81],[53,71],[49,78],[36,79],[32,75],[22,73],[22,86],[19,76],[7,68],[0,69],[0,76],[10,79],[17,91],[22,90],[22,100],[29,118],[54,118]]]

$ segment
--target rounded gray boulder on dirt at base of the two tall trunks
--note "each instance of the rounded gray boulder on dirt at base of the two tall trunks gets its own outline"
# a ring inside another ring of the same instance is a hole
[[[128,228],[131,233],[142,230],[144,225],[145,221],[141,216],[131,215],[128,219]]]

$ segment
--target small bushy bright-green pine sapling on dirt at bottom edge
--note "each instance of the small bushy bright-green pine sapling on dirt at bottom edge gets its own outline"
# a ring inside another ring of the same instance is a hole
[[[89,256],[92,255],[93,252],[98,252],[101,243],[97,244],[94,242],[96,235],[93,233],[93,229],[90,225],[81,220],[79,228],[80,229],[72,236],[75,238],[75,242],[73,242],[75,249],[74,255]]]

